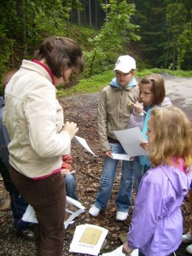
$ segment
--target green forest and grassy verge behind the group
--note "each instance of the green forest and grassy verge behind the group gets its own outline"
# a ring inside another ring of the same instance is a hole
[[[59,96],[100,90],[119,55],[134,56],[137,76],[192,76],[191,0],[1,0],[0,11],[0,79],[49,36],[73,38],[86,61]]]

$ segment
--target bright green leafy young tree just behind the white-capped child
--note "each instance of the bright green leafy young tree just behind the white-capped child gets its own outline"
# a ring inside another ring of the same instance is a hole
[[[101,31],[94,38],[88,39],[92,49],[85,53],[90,75],[101,73],[106,65],[114,62],[125,43],[140,39],[135,33],[138,26],[131,24],[131,15],[135,12],[134,4],[110,0],[108,4],[102,4],[102,7],[108,9],[107,18]]]

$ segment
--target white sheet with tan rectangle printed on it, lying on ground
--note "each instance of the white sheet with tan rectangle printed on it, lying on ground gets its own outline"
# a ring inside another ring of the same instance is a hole
[[[107,235],[108,230],[100,226],[91,224],[79,225],[75,229],[69,252],[98,255]]]

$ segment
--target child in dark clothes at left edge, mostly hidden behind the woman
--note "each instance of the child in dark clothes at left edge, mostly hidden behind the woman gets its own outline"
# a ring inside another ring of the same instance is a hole
[[[15,75],[17,70],[11,69],[3,75],[3,90],[9,80]],[[5,189],[9,191],[11,211],[14,218],[14,230],[17,236],[21,236],[26,240],[33,241],[34,233],[32,231],[32,224],[22,220],[23,214],[26,212],[28,203],[20,196],[20,192],[15,188],[9,174],[9,136],[7,130],[3,125],[3,109],[4,96],[0,96],[0,173],[3,177]]]

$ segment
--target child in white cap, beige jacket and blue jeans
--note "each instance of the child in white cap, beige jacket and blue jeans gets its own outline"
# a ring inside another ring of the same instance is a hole
[[[132,113],[129,102],[137,102],[139,96],[137,81],[134,79],[136,61],[130,55],[119,56],[113,71],[116,73],[116,78],[102,90],[98,106],[97,124],[101,148],[104,153],[104,164],[95,205],[90,207],[89,211],[90,215],[94,217],[107,207],[113,189],[119,160],[114,160],[112,153],[126,154],[113,131],[127,129]],[[122,162],[119,193],[115,201],[118,208],[116,219],[119,221],[127,218],[131,206],[134,176],[134,168],[131,164],[127,160]]]

